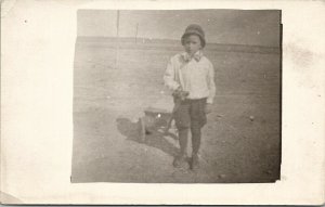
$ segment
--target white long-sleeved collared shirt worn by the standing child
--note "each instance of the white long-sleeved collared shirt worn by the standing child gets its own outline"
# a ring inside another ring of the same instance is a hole
[[[214,69],[211,62],[198,51],[193,59],[186,53],[172,56],[167,65],[165,85],[176,90],[179,87],[188,91],[187,99],[207,98],[207,103],[213,103],[216,95]]]

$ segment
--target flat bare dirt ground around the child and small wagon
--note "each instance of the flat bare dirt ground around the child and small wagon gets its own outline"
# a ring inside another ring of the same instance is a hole
[[[156,131],[141,142],[138,120],[144,109],[172,109],[162,75],[177,52],[125,48],[116,53],[114,48],[77,42],[72,182],[243,183],[280,178],[276,53],[205,51],[214,65],[217,95],[203,129],[198,171],[173,168],[177,137]]]

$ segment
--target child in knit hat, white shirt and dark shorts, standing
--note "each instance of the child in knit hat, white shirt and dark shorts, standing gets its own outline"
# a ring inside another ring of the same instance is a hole
[[[203,55],[205,33],[199,25],[186,27],[181,38],[183,53],[171,57],[164,75],[165,85],[173,91],[176,126],[179,131],[180,154],[174,167],[187,167],[187,134],[192,134],[191,169],[199,168],[198,152],[202,128],[207,122],[216,93],[214,70],[211,62]]]

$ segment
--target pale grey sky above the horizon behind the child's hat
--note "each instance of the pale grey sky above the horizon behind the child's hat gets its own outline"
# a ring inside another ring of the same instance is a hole
[[[78,36],[179,40],[188,24],[199,24],[209,43],[280,46],[277,10],[79,10]],[[117,23],[118,22],[118,23]]]

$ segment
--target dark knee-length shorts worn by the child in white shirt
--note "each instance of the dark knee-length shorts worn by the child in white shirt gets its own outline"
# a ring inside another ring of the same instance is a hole
[[[174,113],[177,128],[203,127],[207,124],[205,113],[207,99],[184,100]]]

